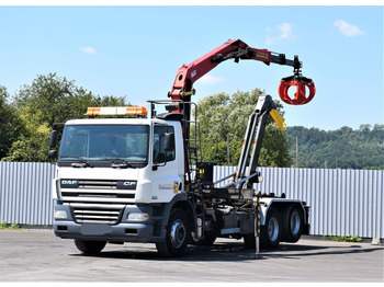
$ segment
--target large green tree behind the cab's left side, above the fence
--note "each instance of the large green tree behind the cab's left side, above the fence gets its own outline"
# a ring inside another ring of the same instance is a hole
[[[55,123],[82,118],[88,106],[128,105],[123,97],[94,96],[75,81],[56,73],[37,76],[14,100],[23,130],[13,141],[7,161],[47,161],[49,133]]]

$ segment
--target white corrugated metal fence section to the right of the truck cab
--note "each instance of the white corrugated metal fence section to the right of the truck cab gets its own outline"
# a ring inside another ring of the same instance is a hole
[[[214,180],[235,171],[217,167]],[[310,206],[310,234],[384,238],[384,171],[260,168],[262,193]]]

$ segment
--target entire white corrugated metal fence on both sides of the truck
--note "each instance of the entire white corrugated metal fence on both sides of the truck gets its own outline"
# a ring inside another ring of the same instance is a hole
[[[0,162],[0,222],[52,225],[54,164]],[[235,171],[215,167],[214,180]],[[384,171],[260,168],[257,190],[310,205],[310,234],[384,238]]]

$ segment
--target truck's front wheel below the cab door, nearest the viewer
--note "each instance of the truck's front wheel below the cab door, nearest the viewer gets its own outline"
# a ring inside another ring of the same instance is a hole
[[[166,257],[181,256],[190,240],[188,217],[181,209],[174,209],[168,221],[166,241],[156,243],[157,251]]]

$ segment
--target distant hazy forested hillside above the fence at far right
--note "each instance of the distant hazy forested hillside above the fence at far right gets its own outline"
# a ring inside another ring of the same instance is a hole
[[[289,127],[286,138],[291,154],[296,156],[304,168],[325,169],[384,169],[384,125],[361,125],[353,130],[341,127],[337,130]]]

